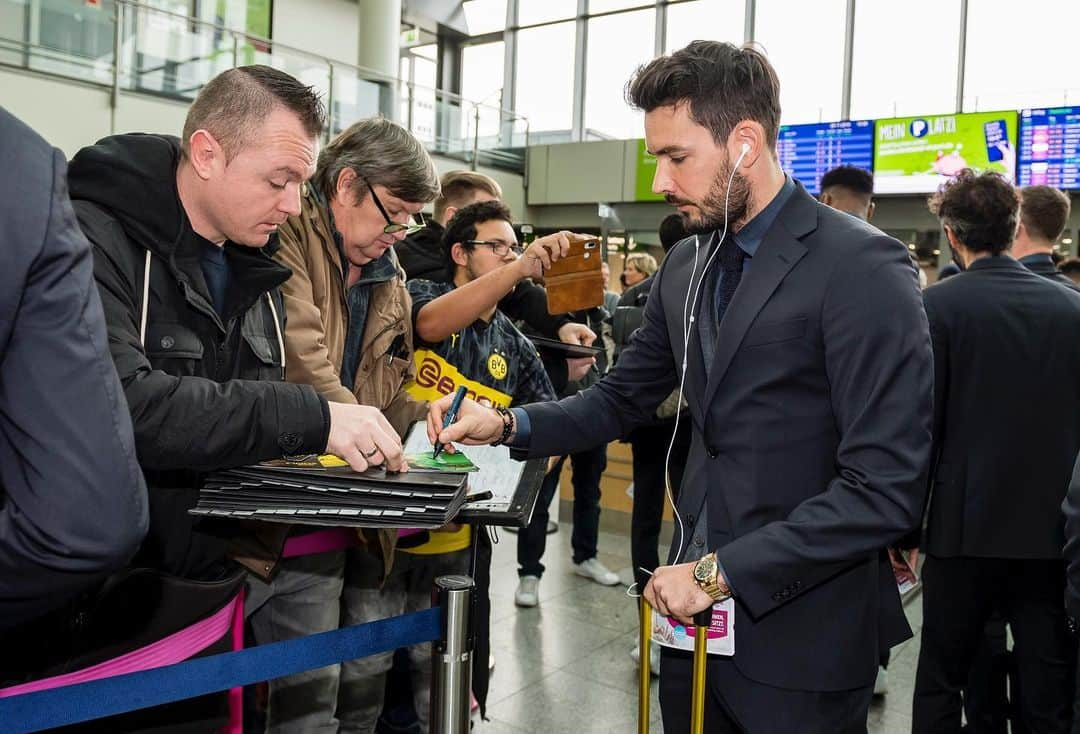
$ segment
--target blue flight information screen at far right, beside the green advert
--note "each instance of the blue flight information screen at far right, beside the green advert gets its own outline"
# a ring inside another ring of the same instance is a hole
[[[1080,107],[1021,111],[1016,168],[1021,186],[1080,189]]]

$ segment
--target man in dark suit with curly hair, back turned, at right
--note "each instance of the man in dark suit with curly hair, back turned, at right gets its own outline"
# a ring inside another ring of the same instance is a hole
[[[931,199],[964,272],[926,291],[935,399],[919,733],[959,730],[994,611],[1015,640],[1024,728],[1067,732],[1071,719],[1061,505],[1080,450],[1080,296],[1009,256],[1018,207],[997,174],[964,172]]]

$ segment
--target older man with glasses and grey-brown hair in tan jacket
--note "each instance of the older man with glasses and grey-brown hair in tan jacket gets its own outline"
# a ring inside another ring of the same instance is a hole
[[[404,390],[413,373],[413,326],[392,245],[422,227],[413,217],[437,193],[435,167],[408,131],[362,120],[319,154],[275,255],[293,271],[282,286],[287,379],[330,402],[378,408],[395,439],[423,416],[424,404]],[[354,533],[335,530],[291,539],[278,574],[253,584],[248,604],[261,604],[256,634],[310,635],[336,629],[342,610],[347,622],[362,614],[350,589],[356,577],[390,572],[397,534],[364,530],[362,538],[359,547]],[[339,674],[330,666],[272,681],[269,731],[338,731]]]

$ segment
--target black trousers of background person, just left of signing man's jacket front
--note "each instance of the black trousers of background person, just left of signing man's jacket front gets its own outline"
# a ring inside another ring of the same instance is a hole
[[[675,421],[669,420],[656,425],[645,425],[635,429],[630,435],[630,447],[634,457],[634,508],[630,519],[630,557],[634,568],[634,580],[638,589],[644,589],[649,581],[649,574],[643,571],[653,571],[660,566],[660,555],[657,545],[660,542],[660,528],[663,525],[664,502],[664,463],[667,459],[667,447],[672,443],[671,470],[672,500],[683,484],[683,470],[690,452],[690,419],[683,417],[678,431]]]

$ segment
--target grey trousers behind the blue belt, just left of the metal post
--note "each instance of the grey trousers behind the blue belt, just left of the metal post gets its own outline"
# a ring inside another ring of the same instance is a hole
[[[394,566],[382,588],[382,562],[362,550],[348,550],[346,585],[342,595],[342,625],[374,622],[389,616],[416,612],[431,607],[431,589],[435,579],[445,574],[465,573],[469,549],[437,556],[424,556],[399,550]],[[431,701],[431,643],[409,648],[413,678],[413,703],[420,729],[428,732]],[[361,657],[341,666],[338,694],[338,718],[343,734],[374,734],[382,712],[387,671],[393,662],[393,651]]]

